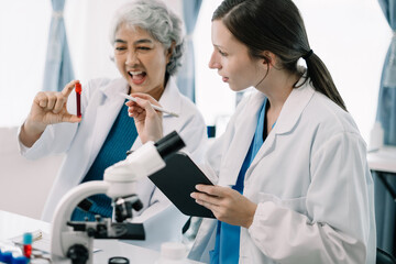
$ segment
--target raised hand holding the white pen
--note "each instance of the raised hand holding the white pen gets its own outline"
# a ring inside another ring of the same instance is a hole
[[[157,141],[163,138],[163,123],[162,112],[157,112],[151,105],[161,105],[151,96],[146,94],[132,94],[132,97],[136,99],[134,101],[128,101],[125,105],[128,113],[135,121],[136,130],[142,143],[147,141]]]

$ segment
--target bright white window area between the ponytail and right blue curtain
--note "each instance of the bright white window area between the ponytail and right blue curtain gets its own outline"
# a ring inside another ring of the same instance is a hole
[[[312,50],[334,82],[369,142],[375,121],[381,73],[392,31],[377,1],[296,0]]]

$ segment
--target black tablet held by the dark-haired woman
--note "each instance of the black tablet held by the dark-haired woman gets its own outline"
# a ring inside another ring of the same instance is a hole
[[[198,166],[182,152],[165,158],[166,166],[148,178],[186,216],[215,218],[212,211],[190,197],[197,184],[213,185]]]

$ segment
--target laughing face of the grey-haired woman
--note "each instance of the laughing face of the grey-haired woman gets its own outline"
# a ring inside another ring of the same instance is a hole
[[[145,92],[158,100],[169,58],[163,44],[141,28],[122,24],[116,33],[114,61],[132,92]]]

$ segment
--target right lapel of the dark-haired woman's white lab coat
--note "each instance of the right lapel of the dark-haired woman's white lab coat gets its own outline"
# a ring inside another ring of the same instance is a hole
[[[256,164],[263,157],[267,156],[270,153],[272,153],[275,150],[276,139],[280,135],[286,135],[288,133],[292,133],[293,129],[297,125],[304,109],[308,105],[309,100],[312,98],[314,92],[315,91],[308,85],[308,81],[306,81],[304,86],[292,90],[290,95],[286,99],[280,110],[279,117],[276,121],[274,129],[270,132],[270,134],[265,139],[262,147],[260,148],[251,166],[249,167],[245,175],[245,179],[249,177],[251,170],[254,169]]]

